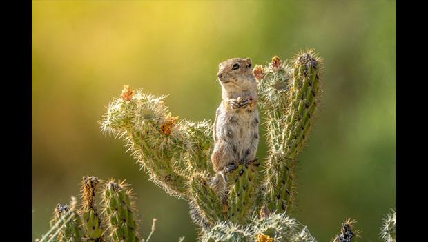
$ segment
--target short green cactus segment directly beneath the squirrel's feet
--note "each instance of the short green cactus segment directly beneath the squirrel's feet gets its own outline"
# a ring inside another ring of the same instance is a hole
[[[243,164],[231,174],[235,178],[229,192],[228,219],[235,223],[243,223],[249,219],[248,215],[255,201],[255,165]]]

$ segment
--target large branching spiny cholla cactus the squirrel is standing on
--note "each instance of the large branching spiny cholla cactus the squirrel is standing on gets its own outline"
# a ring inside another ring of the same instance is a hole
[[[273,57],[269,65],[255,66],[260,108],[267,119],[269,157],[239,165],[227,174],[227,190],[221,196],[211,188],[212,124],[173,117],[163,96],[126,85],[121,96],[110,102],[101,130],[123,137],[152,181],[189,202],[202,240],[260,240],[264,238],[257,235],[264,234],[260,228],[275,217],[274,234],[266,236],[275,241],[314,241],[306,228],[296,229],[298,222],[287,220],[284,212],[293,205],[294,161],[311,128],[321,70],[320,58],[312,50],[290,62]],[[258,218],[260,208],[271,214]],[[293,232],[284,232],[288,229]]]

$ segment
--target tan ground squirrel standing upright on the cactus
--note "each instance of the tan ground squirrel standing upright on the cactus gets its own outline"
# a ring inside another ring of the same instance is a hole
[[[251,69],[251,59],[234,58],[219,64],[217,77],[222,86],[222,103],[217,108],[213,127],[214,150],[211,162],[220,177],[255,159],[259,143],[259,112],[257,81]],[[217,184],[217,185],[216,185]]]

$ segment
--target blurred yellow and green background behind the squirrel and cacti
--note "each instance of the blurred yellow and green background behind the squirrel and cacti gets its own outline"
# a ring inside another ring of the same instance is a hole
[[[180,118],[214,119],[217,64],[267,63],[304,48],[324,58],[321,107],[298,162],[298,209],[318,241],[358,220],[380,241],[396,205],[396,1],[33,1],[32,234],[87,174],[127,179],[142,233],[197,234],[185,201],[148,181],[124,142],[99,131],[124,84],[166,99]],[[264,140],[258,157],[264,157]]]

